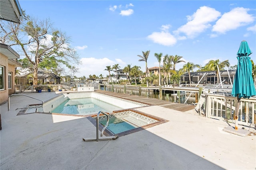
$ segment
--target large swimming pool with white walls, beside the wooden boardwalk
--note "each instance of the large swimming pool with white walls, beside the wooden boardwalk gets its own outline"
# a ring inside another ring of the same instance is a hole
[[[62,93],[44,103],[38,112],[66,115],[94,115],[99,111],[112,113],[116,110],[148,106],[145,103],[130,101],[96,92]]]

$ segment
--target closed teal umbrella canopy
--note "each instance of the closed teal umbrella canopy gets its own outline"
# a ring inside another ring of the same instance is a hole
[[[252,79],[252,62],[249,55],[252,51],[246,41],[242,41],[237,52],[237,69],[232,88],[232,95],[240,98],[250,98],[256,95],[254,82]]]

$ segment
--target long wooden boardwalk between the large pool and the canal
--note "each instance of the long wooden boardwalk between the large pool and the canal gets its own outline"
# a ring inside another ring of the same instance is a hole
[[[161,107],[166,107],[169,109],[174,109],[176,111],[182,111],[182,112],[190,111],[195,108],[194,105],[174,103],[174,102],[159,100],[159,99],[155,99],[155,98],[147,98],[144,96],[128,95],[128,94],[124,94],[124,93],[115,93],[115,92],[103,91],[103,90],[97,90],[95,92],[114,96],[114,97],[120,97],[123,99],[132,100],[132,101],[137,101],[137,102],[141,102],[141,103],[146,103],[148,105],[158,105]]]

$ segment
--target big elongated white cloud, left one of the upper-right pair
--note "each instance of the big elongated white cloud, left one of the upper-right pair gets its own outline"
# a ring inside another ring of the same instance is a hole
[[[210,28],[211,24],[209,23],[217,20],[219,16],[220,12],[214,8],[202,6],[192,16],[187,16],[187,24],[174,31],[174,34],[184,33],[188,38],[194,38],[207,28]]]

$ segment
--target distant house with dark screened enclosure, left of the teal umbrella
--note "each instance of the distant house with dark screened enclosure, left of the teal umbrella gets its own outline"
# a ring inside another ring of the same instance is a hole
[[[206,75],[203,77],[204,73]],[[220,70],[220,76],[221,80],[223,81],[223,84],[231,84],[230,79],[232,83],[234,82],[234,77],[236,75],[236,70]],[[202,78],[203,77],[203,78]],[[230,77],[230,79],[229,79]],[[200,79],[200,83],[205,83],[205,84],[216,84],[217,83],[217,75],[216,71],[198,71],[198,72],[191,72],[190,73],[190,78],[193,83],[198,83]],[[187,82],[189,83],[189,75],[188,73],[180,76],[180,80],[182,82]]]

